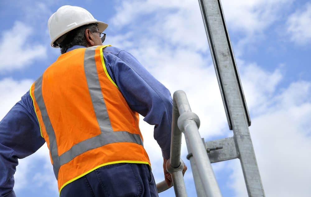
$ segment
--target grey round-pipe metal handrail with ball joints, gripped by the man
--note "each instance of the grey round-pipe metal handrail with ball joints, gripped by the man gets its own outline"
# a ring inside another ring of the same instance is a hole
[[[174,92],[173,116],[170,159],[166,162],[166,169],[172,176],[176,197],[187,196],[183,180],[183,161],[180,159],[182,133],[186,138],[188,148],[192,151],[200,179],[201,187],[208,197],[221,197],[211,162],[207,156],[206,148],[199,134],[199,117],[191,111],[186,93],[182,90]],[[165,181],[157,184],[158,192],[169,189]]]

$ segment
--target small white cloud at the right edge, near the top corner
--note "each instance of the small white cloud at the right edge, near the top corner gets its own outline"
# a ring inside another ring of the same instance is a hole
[[[290,40],[298,45],[307,45],[311,41],[311,3],[296,10],[287,20],[287,32]]]

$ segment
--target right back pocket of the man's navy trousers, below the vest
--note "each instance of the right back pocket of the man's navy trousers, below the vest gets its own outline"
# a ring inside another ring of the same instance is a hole
[[[138,197],[142,186],[131,163],[118,163],[95,170],[106,197]]]

